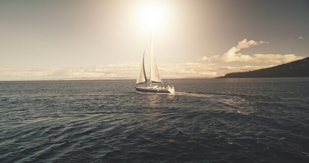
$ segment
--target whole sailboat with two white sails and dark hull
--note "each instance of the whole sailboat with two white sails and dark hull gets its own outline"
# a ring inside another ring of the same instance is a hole
[[[147,43],[148,45],[148,43]],[[156,66],[154,58],[154,49],[153,49],[153,37],[151,37],[151,51],[150,51],[150,80],[148,82],[146,72],[145,72],[145,52],[147,45],[143,54],[143,62],[140,66],[137,80],[135,84],[135,89],[139,93],[174,93],[174,86],[169,83],[168,86],[163,85],[163,82],[159,76],[158,68]],[[140,86],[140,84],[148,83],[147,85]]]

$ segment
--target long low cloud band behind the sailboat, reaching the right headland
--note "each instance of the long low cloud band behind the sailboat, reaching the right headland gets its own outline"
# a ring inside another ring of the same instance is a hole
[[[146,63],[146,65],[149,65]],[[112,80],[136,79],[140,63],[119,63],[106,66],[66,66],[61,68],[1,68],[0,81],[18,80]],[[218,67],[212,63],[158,64],[161,78],[214,78],[231,72],[252,71],[270,66]],[[146,67],[149,75],[149,68]]]

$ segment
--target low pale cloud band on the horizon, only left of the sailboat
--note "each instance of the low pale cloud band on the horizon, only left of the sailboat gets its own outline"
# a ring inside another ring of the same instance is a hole
[[[138,71],[139,63],[111,64],[107,66],[66,66],[61,68],[23,67],[0,68],[0,81],[58,80],[65,78],[129,78]]]

